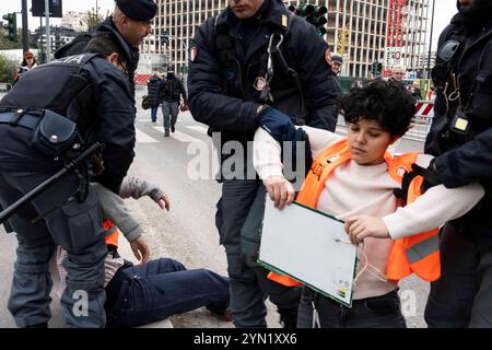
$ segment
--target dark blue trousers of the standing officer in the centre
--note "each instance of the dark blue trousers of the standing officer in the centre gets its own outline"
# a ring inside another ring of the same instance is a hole
[[[215,223],[227,256],[231,311],[236,327],[266,327],[267,296],[281,315],[298,307],[301,289],[269,280],[269,271],[256,262],[265,198],[260,180],[232,179],[223,183],[218,203]]]

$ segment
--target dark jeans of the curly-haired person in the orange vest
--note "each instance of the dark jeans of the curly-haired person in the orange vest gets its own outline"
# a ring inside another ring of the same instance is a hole
[[[380,296],[354,300],[352,307],[349,308],[304,287],[298,307],[298,328],[313,327],[313,303],[316,305],[321,328],[407,327],[396,291]]]

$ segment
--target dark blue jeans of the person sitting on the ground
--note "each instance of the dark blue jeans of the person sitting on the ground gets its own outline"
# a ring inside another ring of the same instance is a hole
[[[221,313],[230,298],[227,278],[168,258],[119,269],[106,294],[107,327],[134,327],[202,306]]]

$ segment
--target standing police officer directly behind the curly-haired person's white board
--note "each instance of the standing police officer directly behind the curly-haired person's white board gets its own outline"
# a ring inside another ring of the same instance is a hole
[[[241,154],[251,154],[246,148],[259,126],[283,141],[295,139],[293,121],[335,129],[337,89],[327,49],[315,27],[280,0],[230,0],[195,36],[189,106],[196,120],[210,126],[209,133],[220,132],[220,144],[213,138],[218,150],[224,147],[215,224],[226,252],[237,327],[267,326],[266,296],[285,327],[296,325],[300,290],[268,280],[268,271],[256,262],[266,192],[251,158]],[[243,150],[225,154],[227,144],[237,143]]]

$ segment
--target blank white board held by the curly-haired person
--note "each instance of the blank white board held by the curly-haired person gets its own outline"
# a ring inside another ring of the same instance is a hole
[[[343,222],[295,202],[278,210],[266,201],[258,261],[350,307],[356,247]]]

